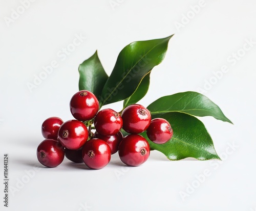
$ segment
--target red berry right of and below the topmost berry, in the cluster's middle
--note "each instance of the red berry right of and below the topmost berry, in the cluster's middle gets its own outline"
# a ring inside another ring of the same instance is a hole
[[[103,109],[98,112],[94,119],[96,131],[104,136],[112,136],[122,128],[121,116],[112,109]]]

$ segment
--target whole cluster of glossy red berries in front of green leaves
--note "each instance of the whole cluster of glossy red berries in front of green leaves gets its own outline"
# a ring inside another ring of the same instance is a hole
[[[173,136],[168,121],[152,120],[150,111],[140,104],[129,105],[121,114],[112,109],[99,111],[96,96],[87,90],[73,95],[70,111],[75,120],[63,122],[50,117],[42,123],[45,140],[37,147],[37,159],[44,166],[56,167],[66,156],[70,161],[84,162],[91,169],[101,169],[117,151],[124,164],[139,166],[150,155],[150,145],[140,133],[146,130],[148,139],[157,144]],[[130,135],[123,137],[121,128]]]

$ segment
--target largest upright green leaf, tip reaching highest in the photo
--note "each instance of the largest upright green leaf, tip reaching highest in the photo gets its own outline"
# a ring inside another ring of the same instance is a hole
[[[118,55],[115,67],[102,90],[102,105],[130,97],[142,78],[162,62],[172,36],[137,41],[125,46]]]

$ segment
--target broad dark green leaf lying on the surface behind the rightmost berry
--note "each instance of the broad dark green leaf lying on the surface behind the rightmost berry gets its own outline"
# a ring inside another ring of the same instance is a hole
[[[164,153],[172,161],[185,159],[186,157],[195,157],[195,159],[202,161],[220,159],[208,131],[199,119],[181,112],[153,116],[153,118],[158,117],[170,122],[174,135],[165,144],[155,144],[143,132],[140,135],[147,139],[151,149]]]

